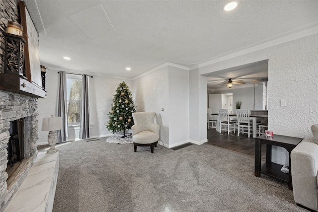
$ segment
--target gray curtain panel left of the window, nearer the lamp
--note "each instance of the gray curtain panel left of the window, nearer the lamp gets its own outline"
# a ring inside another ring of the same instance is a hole
[[[66,74],[65,71],[60,71],[59,94],[57,116],[61,117],[62,130],[58,131],[58,143],[69,140],[68,133],[68,110],[67,110],[67,95],[66,95]]]

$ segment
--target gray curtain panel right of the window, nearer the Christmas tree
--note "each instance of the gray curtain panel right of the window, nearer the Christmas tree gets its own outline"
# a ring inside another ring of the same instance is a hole
[[[79,139],[89,138],[89,89],[87,74],[81,80]]]

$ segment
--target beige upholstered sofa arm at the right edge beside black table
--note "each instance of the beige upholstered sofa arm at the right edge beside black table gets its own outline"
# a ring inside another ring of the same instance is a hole
[[[293,194],[296,203],[318,210],[318,144],[300,142],[291,152]]]

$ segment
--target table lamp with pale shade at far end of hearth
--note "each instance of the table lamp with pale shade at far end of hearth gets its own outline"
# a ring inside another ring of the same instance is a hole
[[[53,117],[52,115],[49,118],[43,118],[42,131],[50,131],[48,135],[48,143],[51,148],[46,151],[47,153],[54,153],[59,151],[59,149],[55,147],[55,144],[58,140],[56,131],[61,129],[61,117]]]

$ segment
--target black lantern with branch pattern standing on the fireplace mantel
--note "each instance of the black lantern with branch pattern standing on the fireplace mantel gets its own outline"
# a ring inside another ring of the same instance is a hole
[[[18,35],[3,32],[4,35],[4,73],[24,76],[25,40]]]

